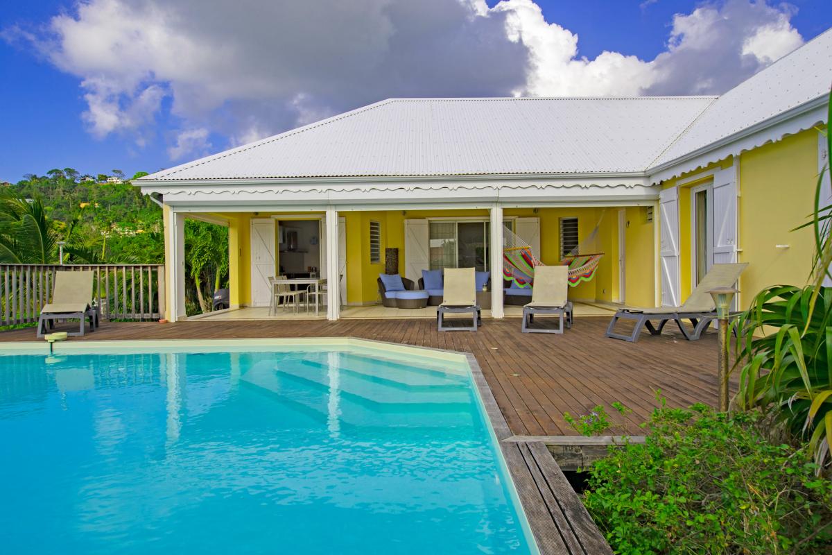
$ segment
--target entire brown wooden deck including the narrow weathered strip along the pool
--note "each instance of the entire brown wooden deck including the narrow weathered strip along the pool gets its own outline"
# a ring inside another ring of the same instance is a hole
[[[716,334],[688,342],[668,330],[631,344],[605,338],[608,321],[576,318],[562,335],[522,334],[513,318],[484,320],[476,333],[439,333],[433,320],[106,323],[71,340],[356,337],[473,354],[474,380],[541,553],[592,555],[612,550],[547,450],[552,438],[546,436],[575,435],[563,413],[584,414],[602,404],[619,426],[613,433],[639,434],[657,390],[671,406],[716,403]],[[0,332],[0,349],[4,341],[34,337],[34,329]],[[632,413],[616,414],[615,401]]]

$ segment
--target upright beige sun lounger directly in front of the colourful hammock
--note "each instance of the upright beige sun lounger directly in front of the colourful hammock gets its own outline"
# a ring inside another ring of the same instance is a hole
[[[564,321],[567,328],[572,327],[572,303],[567,300],[568,270],[565,265],[537,266],[534,269],[532,302],[522,307],[520,329],[524,334],[562,334]],[[532,328],[536,315],[557,315],[560,325],[557,330]]]

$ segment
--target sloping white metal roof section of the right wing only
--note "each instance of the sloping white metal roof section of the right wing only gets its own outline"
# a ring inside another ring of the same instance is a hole
[[[832,29],[717,98],[651,166],[666,165],[824,98],[830,84]]]

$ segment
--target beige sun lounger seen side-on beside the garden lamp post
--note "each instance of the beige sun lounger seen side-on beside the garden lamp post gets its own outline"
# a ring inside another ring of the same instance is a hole
[[[674,320],[679,330],[689,341],[695,341],[701,337],[711,321],[716,319],[716,306],[708,291],[717,287],[730,287],[740,278],[742,270],[745,270],[747,263],[743,264],[715,264],[704,278],[696,285],[684,305],[662,306],[660,308],[635,308],[626,307],[616,312],[607,327],[607,337],[612,339],[624,339],[625,341],[636,341],[641,335],[641,328],[646,327],[651,335],[661,334],[666,323]],[[633,320],[635,326],[631,334],[619,334],[615,332],[618,320]],[[692,330],[686,330],[682,320],[690,320]],[[653,325],[657,322],[658,326]]]

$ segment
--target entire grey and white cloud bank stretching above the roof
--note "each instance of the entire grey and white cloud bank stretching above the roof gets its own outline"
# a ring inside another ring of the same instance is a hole
[[[180,159],[387,97],[720,93],[800,45],[790,9],[703,4],[653,60],[578,57],[532,0],[78,0],[5,35],[79,77],[94,136],[141,146],[165,117]]]

